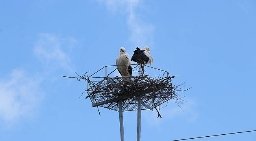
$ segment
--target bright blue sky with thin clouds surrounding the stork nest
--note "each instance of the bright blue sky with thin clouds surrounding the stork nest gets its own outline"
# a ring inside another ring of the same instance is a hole
[[[118,112],[79,98],[84,82],[61,78],[114,65],[119,48],[150,47],[152,66],[191,90],[142,111],[141,140],[256,128],[254,0],[0,1],[0,140],[120,140]],[[152,72],[153,73],[153,72]],[[136,139],[137,113],[124,112]],[[254,141],[255,133],[197,139]]]

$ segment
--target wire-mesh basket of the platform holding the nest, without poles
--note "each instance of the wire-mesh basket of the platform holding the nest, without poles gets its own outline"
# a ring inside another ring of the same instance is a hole
[[[118,101],[122,101],[122,110],[138,109],[138,95],[141,94],[141,109],[153,109],[173,98],[175,90],[169,78],[160,80],[148,76],[132,76],[124,81],[122,77],[104,78],[87,89],[93,107],[100,106],[119,111]]]

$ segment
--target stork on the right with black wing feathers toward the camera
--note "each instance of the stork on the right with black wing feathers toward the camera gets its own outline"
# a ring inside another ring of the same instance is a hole
[[[152,64],[153,58],[151,54],[149,53],[149,47],[144,47],[144,49],[139,49],[139,47],[136,47],[136,50],[134,51],[134,55],[132,56],[132,61],[135,61],[137,63],[143,64],[141,65],[142,72],[144,72],[144,65],[146,64]]]

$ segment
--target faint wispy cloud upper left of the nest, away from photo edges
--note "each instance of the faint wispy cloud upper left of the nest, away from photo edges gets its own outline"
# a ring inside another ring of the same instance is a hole
[[[70,53],[78,41],[74,38],[62,38],[55,34],[41,33],[34,47],[34,54],[46,65],[47,69],[61,67],[73,71]]]

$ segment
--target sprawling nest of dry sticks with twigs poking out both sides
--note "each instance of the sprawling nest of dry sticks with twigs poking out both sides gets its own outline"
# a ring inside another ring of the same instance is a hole
[[[171,80],[176,76],[169,76],[169,73],[166,77],[164,77],[164,75],[160,77],[159,75],[158,78],[152,78],[148,75],[139,75],[132,76],[129,79],[124,77],[108,77],[111,73],[106,75],[106,77],[88,77],[87,73],[88,72],[83,76],[76,73],[78,77],[63,77],[86,81],[87,89],[82,95],[87,92],[88,96],[86,96],[86,98],[90,98],[93,107],[97,108],[104,107],[109,110],[119,111],[118,101],[122,101],[123,111],[137,110],[137,98],[140,94],[142,103],[141,109],[152,110],[155,108],[158,112],[158,117],[161,117],[159,113],[160,105],[170,99],[174,99],[179,106],[179,104],[183,103],[183,97],[179,95],[179,92],[188,90],[182,90],[184,83],[173,85]],[[97,80],[95,80],[96,78]]]

